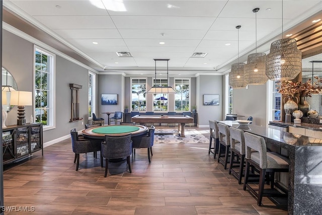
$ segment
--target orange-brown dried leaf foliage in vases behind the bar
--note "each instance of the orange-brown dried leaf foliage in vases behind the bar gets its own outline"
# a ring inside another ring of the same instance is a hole
[[[312,94],[322,93],[322,86],[319,83],[322,83],[322,78],[314,77],[316,81],[312,84],[311,79],[307,82],[292,82],[285,81],[278,83],[278,92],[284,96],[294,97],[295,94],[299,94],[300,97],[311,97]]]

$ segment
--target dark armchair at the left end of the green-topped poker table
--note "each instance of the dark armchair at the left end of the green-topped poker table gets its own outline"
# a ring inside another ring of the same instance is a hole
[[[79,166],[79,154],[101,151],[101,140],[100,139],[78,139],[78,133],[75,128],[70,130],[71,136],[71,148],[72,152],[75,153],[74,163],[76,163],[76,171]]]

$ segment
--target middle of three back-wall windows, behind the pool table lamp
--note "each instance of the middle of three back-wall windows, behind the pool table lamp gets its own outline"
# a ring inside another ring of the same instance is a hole
[[[168,87],[167,79],[154,79],[153,86]],[[168,111],[168,94],[153,94],[153,111]]]

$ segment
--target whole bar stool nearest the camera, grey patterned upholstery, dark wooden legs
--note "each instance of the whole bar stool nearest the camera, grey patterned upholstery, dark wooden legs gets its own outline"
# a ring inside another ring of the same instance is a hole
[[[276,183],[276,187],[278,187],[281,191],[285,193],[264,193],[264,184],[265,184],[265,175],[267,172],[270,173],[270,182],[271,182],[271,189],[274,189],[274,175],[275,172],[288,172],[289,160],[277,153],[267,152],[266,149],[266,142],[263,137],[245,132],[245,146],[246,146],[246,170],[245,170],[245,179],[244,179],[244,187],[243,189],[246,190],[248,188],[250,192],[257,198],[257,204],[261,206],[263,196],[287,196],[287,191],[278,186]],[[254,150],[254,152],[252,151]],[[256,152],[255,152],[256,151]],[[256,192],[249,185],[249,172],[250,166],[258,169],[259,174],[259,189]],[[267,190],[267,189],[265,189]]]

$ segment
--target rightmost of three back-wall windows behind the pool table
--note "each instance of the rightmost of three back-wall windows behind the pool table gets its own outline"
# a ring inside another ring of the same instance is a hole
[[[190,111],[190,80],[175,79],[176,95],[175,95],[175,111]]]

